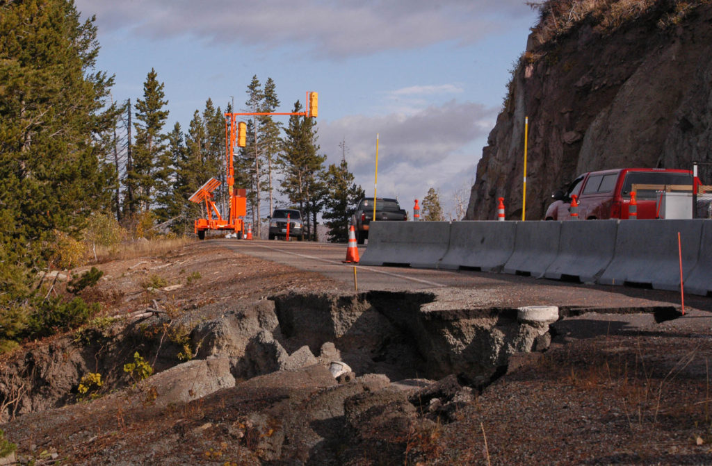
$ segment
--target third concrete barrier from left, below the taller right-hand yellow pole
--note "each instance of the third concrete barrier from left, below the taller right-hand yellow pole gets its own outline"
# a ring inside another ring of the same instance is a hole
[[[517,222],[514,252],[504,272],[542,277],[556,258],[560,231],[560,221]]]

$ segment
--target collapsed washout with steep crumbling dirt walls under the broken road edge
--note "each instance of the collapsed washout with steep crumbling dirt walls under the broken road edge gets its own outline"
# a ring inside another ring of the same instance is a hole
[[[105,386],[96,387],[96,393],[130,386],[137,374],[125,365],[135,364],[135,354],[158,373],[173,368],[180,378],[180,371],[206,366],[210,369],[201,370],[219,379],[188,378],[186,392],[191,394],[171,388],[168,396],[168,390],[157,390],[157,402],[167,404],[201,398],[235,380],[313,364],[328,367],[335,361],[347,364],[354,376],[383,374],[399,381],[458,374],[483,386],[506,366],[508,355],[535,346],[545,349],[550,341],[549,322],[519,322],[511,309],[429,311],[442,294],[452,290],[288,292],[194,327],[156,311],[107,319],[6,361],[2,415],[7,419],[86,398],[78,391],[85,374],[103,377]],[[214,360],[221,363],[208,362]]]

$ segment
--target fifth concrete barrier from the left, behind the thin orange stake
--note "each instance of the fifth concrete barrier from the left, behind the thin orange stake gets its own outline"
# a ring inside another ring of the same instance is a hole
[[[680,289],[677,233],[680,232],[684,277],[697,263],[704,220],[636,220],[618,225],[616,252],[599,280],[601,285],[626,282],[656,290]]]

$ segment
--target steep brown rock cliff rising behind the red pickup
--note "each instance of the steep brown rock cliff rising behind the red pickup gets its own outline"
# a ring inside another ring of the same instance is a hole
[[[587,14],[545,41],[543,25],[533,29],[466,220],[495,220],[498,197],[508,220],[521,218],[525,117],[527,220],[543,219],[550,194],[585,171],[712,161],[712,4],[681,14],[675,2],[649,3],[615,28]],[[709,167],[700,173],[712,182]]]

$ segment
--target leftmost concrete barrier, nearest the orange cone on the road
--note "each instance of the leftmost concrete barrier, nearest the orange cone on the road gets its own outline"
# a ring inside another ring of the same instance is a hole
[[[359,264],[436,268],[447,252],[449,238],[450,222],[375,221]]]

